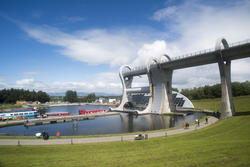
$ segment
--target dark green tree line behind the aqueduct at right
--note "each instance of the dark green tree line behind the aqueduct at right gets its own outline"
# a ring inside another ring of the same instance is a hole
[[[182,89],[180,93],[191,100],[220,98],[221,84],[215,84],[212,86],[206,85],[192,89]],[[232,82],[232,94],[233,96],[250,95],[250,82]]]

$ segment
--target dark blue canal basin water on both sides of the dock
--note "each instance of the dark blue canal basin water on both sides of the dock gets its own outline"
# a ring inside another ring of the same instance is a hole
[[[110,106],[64,106],[51,107],[46,112],[70,112],[71,115],[78,114],[79,109],[97,110],[106,109]],[[73,121],[48,125],[25,127],[23,125],[0,128],[0,133],[8,133],[12,136],[34,136],[35,133],[47,131],[50,136],[60,132],[63,136],[72,135],[96,135],[127,133],[147,130],[166,129],[183,125],[184,121],[193,122],[205,114],[194,113],[187,116],[165,116],[165,115],[129,115],[122,113],[106,117],[96,117],[93,120]]]

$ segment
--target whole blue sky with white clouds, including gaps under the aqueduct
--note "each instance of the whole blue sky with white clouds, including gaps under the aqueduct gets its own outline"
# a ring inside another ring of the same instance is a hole
[[[250,39],[249,18],[249,0],[0,0],[0,89],[119,95],[121,65]],[[250,58],[233,61],[246,80]],[[216,83],[217,64],[173,74],[179,90]]]

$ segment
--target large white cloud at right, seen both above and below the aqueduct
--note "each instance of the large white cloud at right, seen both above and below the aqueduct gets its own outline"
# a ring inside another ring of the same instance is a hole
[[[182,55],[202,49],[213,48],[219,37],[229,43],[250,38],[249,1],[229,2],[223,6],[201,5],[199,1],[185,1],[174,6],[173,12],[165,14],[167,8],[159,9],[153,17],[167,26],[176,39],[167,42],[167,53]],[[167,13],[167,12],[166,12]],[[171,54],[170,54],[171,55]],[[204,86],[219,83],[218,65],[206,65],[176,70],[173,85],[178,88]],[[232,61],[232,81],[250,80],[250,59]]]

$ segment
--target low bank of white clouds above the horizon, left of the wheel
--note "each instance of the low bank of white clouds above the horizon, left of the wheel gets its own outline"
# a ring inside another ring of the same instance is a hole
[[[44,83],[35,78],[24,78],[17,80],[14,84],[0,82],[0,89],[17,88],[28,90],[42,90],[46,92],[65,92],[67,90],[76,90],[78,92],[101,92],[110,94],[121,94],[122,85],[118,73],[103,72],[93,76],[92,81],[54,81]]]

